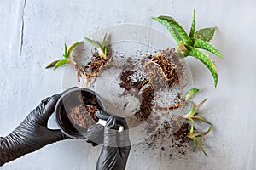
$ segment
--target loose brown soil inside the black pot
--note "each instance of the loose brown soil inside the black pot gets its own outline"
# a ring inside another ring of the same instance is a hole
[[[75,125],[88,129],[98,122],[96,111],[101,109],[94,94],[82,94],[82,101],[69,108],[68,117]]]

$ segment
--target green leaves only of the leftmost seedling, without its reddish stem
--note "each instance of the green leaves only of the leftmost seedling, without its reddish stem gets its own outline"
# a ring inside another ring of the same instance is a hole
[[[64,59],[58,59],[53,62],[51,62],[49,65],[47,65],[45,68],[48,69],[50,67],[54,67],[54,70],[56,70],[61,65],[66,65],[67,63],[76,66],[77,63],[71,58],[71,53],[73,52],[73,49],[76,48],[79,45],[80,42],[75,42],[71,45],[70,48],[67,50],[67,44],[65,43],[65,52],[63,54]]]

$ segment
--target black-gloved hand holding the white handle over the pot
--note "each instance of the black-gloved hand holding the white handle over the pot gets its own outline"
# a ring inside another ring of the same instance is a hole
[[[96,116],[107,120],[104,128],[103,148],[96,164],[96,170],[124,170],[131,150],[125,119],[110,116],[105,111],[97,111]],[[124,127],[121,133],[118,132],[119,125]]]

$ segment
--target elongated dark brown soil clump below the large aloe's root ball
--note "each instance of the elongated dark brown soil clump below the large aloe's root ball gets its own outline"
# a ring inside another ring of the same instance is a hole
[[[138,122],[145,122],[153,111],[152,101],[154,99],[154,89],[149,86],[143,89],[140,109],[135,113]]]

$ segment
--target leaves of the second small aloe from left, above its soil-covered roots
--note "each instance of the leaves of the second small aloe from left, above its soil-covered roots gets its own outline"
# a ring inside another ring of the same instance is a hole
[[[96,42],[95,40],[91,40],[88,37],[84,37],[84,39],[87,42],[90,42],[90,44],[93,45],[97,49],[100,57],[102,59],[105,59],[105,60],[107,60],[107,54],[108,54],[108,48],[107,48],[107,45],[106,45],[106,38],[107,38],[107,32],[105,33],[105,35],[103,37],[103,40],[102,40],[102,44],[101,44],[100,42]]]

